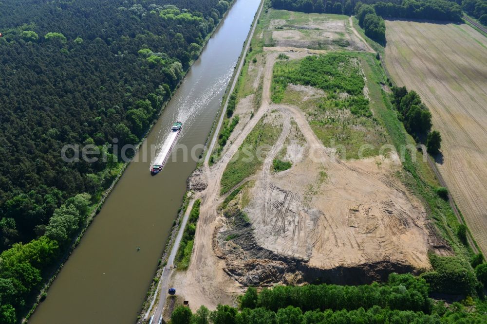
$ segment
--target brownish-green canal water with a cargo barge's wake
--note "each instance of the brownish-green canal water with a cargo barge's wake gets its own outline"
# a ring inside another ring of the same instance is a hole
[[[191,148],[206,141],[259,4],[236,0],[230,8],[30,323],[136,322],[196,166]],[[170,156],[151,176],[150,147],[162,144],[177,120],[183,122],[177,144],[188,147],[187,159],[178,149],[176,161]]]

